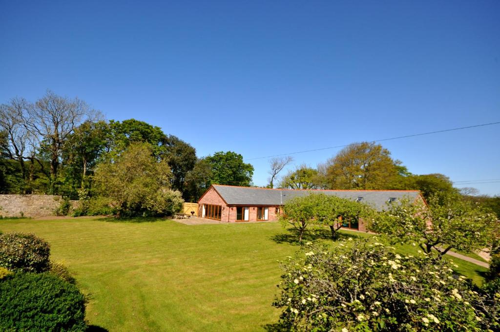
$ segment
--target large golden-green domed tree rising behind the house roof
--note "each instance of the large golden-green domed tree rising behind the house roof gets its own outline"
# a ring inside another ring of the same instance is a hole
[[[380,144],[354,143],[328,160],[326,181],[331,189],[387,189],[399,163]]]

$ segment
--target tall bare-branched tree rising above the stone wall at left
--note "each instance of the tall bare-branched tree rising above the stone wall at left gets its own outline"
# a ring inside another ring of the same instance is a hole
[[[50,193],[56,191],[55,180],[62,145],[81,122],[96,116],[96,112],[83,100],[60,96],[47,90],[22,113],[25,128],[37,138],[40,151],[50,159]]]

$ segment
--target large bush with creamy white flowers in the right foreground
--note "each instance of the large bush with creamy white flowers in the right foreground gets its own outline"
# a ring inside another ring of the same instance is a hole
[[[491,301],[444,259],[399,255],[382,243],[340,243],[331,251],[308,245],[281,262],[274,306],[287,330],[485,330]]]

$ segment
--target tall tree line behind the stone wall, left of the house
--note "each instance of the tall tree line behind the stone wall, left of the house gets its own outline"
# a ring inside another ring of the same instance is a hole
[[[96,169],[111,165],[135,143],[164,163],[168,187],[195,201],[211,183],[249,186],[253,166],[241,154],[199,157],[182,139],[158,126],[106,120],[85,101],[48,90],[34,102],[15,97],[0,105],[0,192],[97,195]],[[102,172],[101,172],[102,173]]]

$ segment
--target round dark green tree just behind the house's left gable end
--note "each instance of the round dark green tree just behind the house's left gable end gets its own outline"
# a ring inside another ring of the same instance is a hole
[[[253,166],[232,151],[219,151],[206,157],[212,171],[211,183],[250,186]]]

